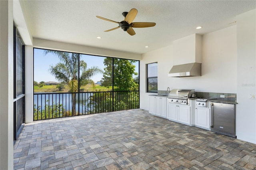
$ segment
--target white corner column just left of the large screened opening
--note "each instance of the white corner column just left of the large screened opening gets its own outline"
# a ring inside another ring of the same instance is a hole
[[[33,122],[33,47],[25,46],[25,123]]]

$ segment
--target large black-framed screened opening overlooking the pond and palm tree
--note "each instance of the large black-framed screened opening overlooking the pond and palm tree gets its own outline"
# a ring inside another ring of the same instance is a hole
[[[139,108],[139,61],[34,48],[34,121]]]

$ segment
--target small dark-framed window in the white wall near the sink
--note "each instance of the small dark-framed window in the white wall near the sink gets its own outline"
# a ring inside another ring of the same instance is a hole
[[[157,63],[147,65],[147,92],[157,93]]]

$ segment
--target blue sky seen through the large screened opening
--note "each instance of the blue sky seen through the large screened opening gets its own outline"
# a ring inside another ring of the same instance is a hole
[[[97,66],[100,69],[104,69],[104,59],[106,57],[93,56],[93,55],[82,55],[82,58],[86,63],[87,67],[91,68],[93,66]],[[49,73],[50,65],[56,65],[60,60],[58,57],[53,55],[52,53],[48,53],[44,55],[44,49],[36,49],[34,48],[34,81],[38,83],[40,81],[57,81],[54,76]],[[136,65],[135,71],[138,73],[138,65],[139,62],[134,63]],[[100,81],[102,78],[102,74],[97,74],[92,77],[92,80],[96,83]]]

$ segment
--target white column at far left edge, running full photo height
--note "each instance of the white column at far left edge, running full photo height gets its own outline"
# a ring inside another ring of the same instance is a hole
[[[0,169],[13,169],[13,1],[0,0]]]

